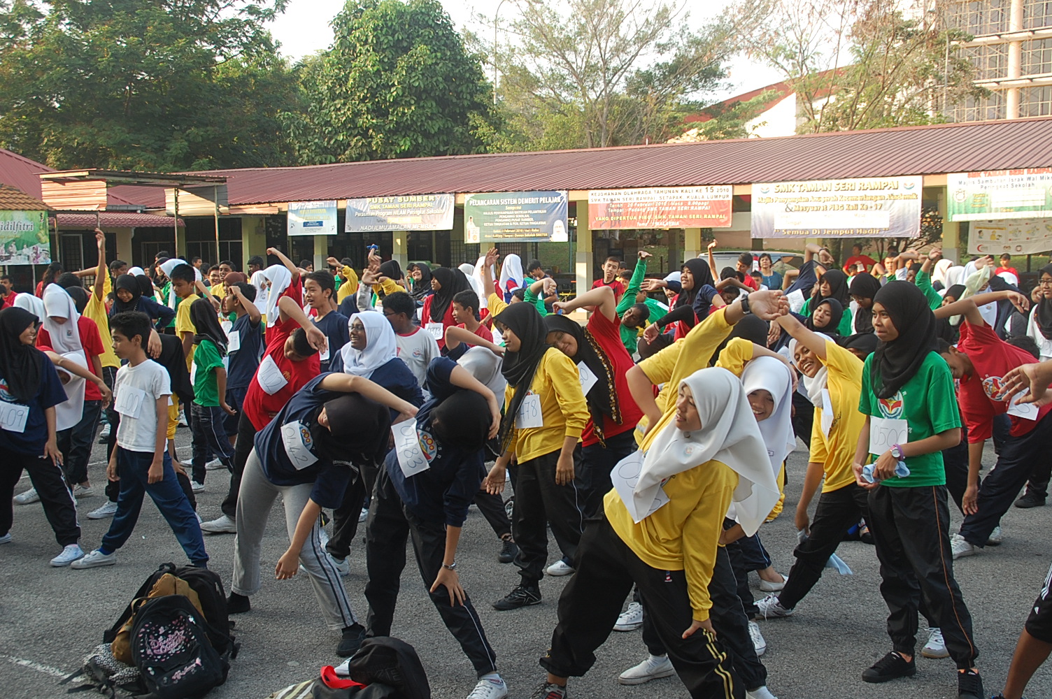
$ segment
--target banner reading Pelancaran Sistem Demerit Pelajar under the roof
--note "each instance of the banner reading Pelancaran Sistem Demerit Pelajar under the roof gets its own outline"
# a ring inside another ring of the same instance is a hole
[[[565,243],[565,191],[498,191],[464,198],[464,242]]]

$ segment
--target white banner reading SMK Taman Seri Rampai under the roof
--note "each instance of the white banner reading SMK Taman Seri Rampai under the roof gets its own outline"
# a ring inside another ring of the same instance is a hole
[[[752,238],[915,238],[924,179],[752,185]]]

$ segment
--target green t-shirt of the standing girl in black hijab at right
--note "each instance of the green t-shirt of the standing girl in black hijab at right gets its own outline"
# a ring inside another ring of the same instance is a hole
[[[909,441],[919,441],[933,434],[960,427],[960,413],[953,391],[953,374],[950,373],[950,367],[942,355],[929,352],[917,372],[891,398],[877,398],[873,394],[869,372],[874,356],[876,355],[870,354],[863,367],[858,412],[869,415],[870,419],[873,417],[905,419],[909,426]],[[910,475],[905,478],[892,476],[882,480],[881,485],[892,488],[946,485],[946,468],[943,465],[940,451],[910,456],[906,459],[906,466],[910,469]]]

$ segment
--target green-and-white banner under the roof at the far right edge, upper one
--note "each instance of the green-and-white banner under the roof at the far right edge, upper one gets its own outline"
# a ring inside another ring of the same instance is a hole
[[[950,221],[1052,217],[1052,167],[946,176]]]

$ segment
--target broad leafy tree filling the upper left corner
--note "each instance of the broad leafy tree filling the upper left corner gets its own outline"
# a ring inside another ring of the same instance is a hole
[[[57,168],[287,164],[286,0],[0,0],[0,145]]]

